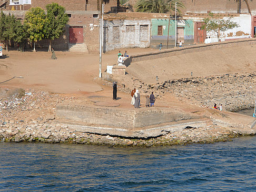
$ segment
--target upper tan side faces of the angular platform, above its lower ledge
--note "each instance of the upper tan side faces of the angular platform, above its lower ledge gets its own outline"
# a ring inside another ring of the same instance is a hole
[[[56,107],[56,117],[72,119],[86,124],[122,128],[144,127],[201,118],[201,116],[182,113],[169,108],[117,109],[65,104]]]

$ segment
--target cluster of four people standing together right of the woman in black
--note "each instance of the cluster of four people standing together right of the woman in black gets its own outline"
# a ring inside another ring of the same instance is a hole
[[[141,95],[138,89],[133,89],[131,92],[131,97],[132,97],[132,101],[131,101],[131,105],[134,105],[135,108],[140,108],[141,106]],[[154,93],[152,92],[151,95],[147,95],[146,96],[146,107],[153,107],[155,103],[155,96]]]

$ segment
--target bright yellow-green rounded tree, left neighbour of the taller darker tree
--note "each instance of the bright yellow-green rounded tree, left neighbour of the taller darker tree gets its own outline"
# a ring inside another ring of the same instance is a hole
[[[40,7],[32,7],[26,13],[24,25],[27,28],[29,41],[34,42],[34,52],[36,51],[35,43],[45,38],[46,22],[46,14],[44,10]]]

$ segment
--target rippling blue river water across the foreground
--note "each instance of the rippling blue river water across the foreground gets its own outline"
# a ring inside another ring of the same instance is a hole
[[[151,148],[0,143],[0,191],[256,191],[256,137]]]

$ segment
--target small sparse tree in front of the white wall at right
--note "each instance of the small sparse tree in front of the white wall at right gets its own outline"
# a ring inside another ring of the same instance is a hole
[[[220,38],[220,32],[225,32],[228,29],[232,29],[234,27],[239,27],[239,25],[235,22],[230,21],[231,18],[225,20],[225,19],[211,19],[211,18],[204,18],[202,25],[202,29],[205,29],[206,31],[214,31],[217,36],[218,40]]]

